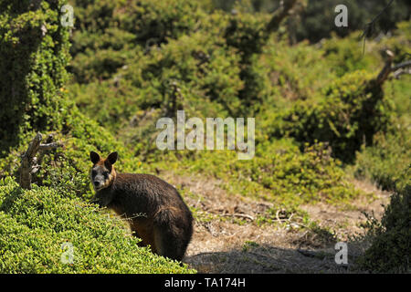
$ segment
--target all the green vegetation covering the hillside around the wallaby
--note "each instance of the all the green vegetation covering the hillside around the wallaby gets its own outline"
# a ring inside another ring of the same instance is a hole
[[[334,1],[296,2],[270,29],[268,1],[0,0],[0,272],[194,272],[137,247],[90,203],[90,151],[118,151],[120,172],[214,177],[228,193],[297,213],[306,203],[349,206],[364,194],[353,177],[370,180],[395,195],[359,266],[409,272],[410,77],[376,81],[386,49],[394,64],[409,59],[409,10],[395,1],[376,27],[390,34],[367,40],[363,55],[359,29],[388,1],[375,12],[369,1],[350,6],[355,25],[336,33],[324,31]],[[67,3],[73,28],[59,22]],[[160,151],[156,121],[176,110],[254,117],[254,158]],[[26,191],[12,177],[37,131],[64,147],[44,155]],[[71,266],[59,260],[66,241],[79,255]]]

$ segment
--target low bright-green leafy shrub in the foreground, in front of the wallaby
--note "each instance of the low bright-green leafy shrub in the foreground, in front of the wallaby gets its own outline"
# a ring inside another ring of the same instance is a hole
[[[0,273],[193,273],[137,247],[124,223],[63,190],[0,180]],[[73,246],[73,261],[61,257]]]

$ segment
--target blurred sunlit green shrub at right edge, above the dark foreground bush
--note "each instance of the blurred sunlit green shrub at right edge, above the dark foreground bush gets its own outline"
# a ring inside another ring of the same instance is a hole
[[[411,164],[410,80],[404,76],[385,84],[385,97],[393,103],[392,119],[386,132],[374,135],[374,145],[356,153],[353,167],[356,177],[369,179],[389,191],[404,180],[402,173]]]

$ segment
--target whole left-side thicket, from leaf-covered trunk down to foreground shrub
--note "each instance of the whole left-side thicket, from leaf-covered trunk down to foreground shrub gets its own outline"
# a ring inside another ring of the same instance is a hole
[[[5,104],[0,110],[0,272],[193,272],[137,247],[138,239],[124,224],[79,198],[90,197],[91,150],[117,149],[134,169],[138,164],[66,95],[68,28],[59,22],[66,3],[0,2],[0,97]],[[44,157],[33,190],[24,191],[10,175],[17,174],[19,154],[37,131],[55,133],[64,149]],[[72,265],[60,261],[65,242],[74,246]]]

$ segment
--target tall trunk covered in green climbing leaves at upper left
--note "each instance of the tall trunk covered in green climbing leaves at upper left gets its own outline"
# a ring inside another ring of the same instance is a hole
[[[0,149],[27,130],[61,123],[68,80],[68,28],[59,25],[65,1],[0,1]],[[2,154],[4,156],[4,154]]]

